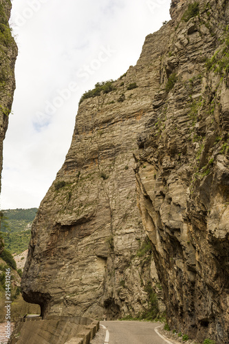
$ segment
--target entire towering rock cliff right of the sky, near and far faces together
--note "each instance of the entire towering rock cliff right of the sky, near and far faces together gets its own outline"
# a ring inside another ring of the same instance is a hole
[[[227,343],[228,7],[172,1],[137,65],[81,99],[23,273],[43,316],[157,312],[162,288],[171,327]]]

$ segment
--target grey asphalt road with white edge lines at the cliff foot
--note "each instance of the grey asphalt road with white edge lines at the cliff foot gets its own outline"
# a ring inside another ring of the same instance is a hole
[[[156,332],[160,323],[141,321],[100,321],[107,329],[105,344],[168,344]],[[172,344],[172,343],[171,343]]]

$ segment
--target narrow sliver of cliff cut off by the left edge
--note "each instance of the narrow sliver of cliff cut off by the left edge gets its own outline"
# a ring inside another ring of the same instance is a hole
[[[0,191],[1,170],[3,163],[3,140],[8,127],[8,116],[15,89],[14,63],[17,57],[17,45],[12,38],[8,20],[10,19],[11,2],[0,1]],[[1,240],[1,239],[0,239]],[[0,243],[0,251],[2,244]]]

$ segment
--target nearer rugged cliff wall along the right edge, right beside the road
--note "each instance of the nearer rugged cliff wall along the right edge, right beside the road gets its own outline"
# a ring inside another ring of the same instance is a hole
[[[228,19],[228,1],[201,1],[169,24],[135,169],[169,324],[217,343],[229,338]]]

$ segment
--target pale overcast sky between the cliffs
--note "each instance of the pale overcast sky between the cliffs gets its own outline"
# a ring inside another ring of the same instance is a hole
[[[135,65],[170,0],[13,0],[19,47],[1,208],[39,207],[69,149],[78,101]]]

